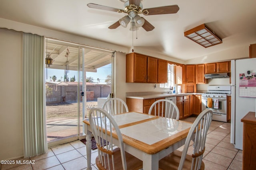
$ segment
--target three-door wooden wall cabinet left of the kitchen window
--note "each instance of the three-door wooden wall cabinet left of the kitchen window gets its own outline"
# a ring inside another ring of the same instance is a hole
[[[167,82],[167,61],[138,53],[126,55],[126,82]]]

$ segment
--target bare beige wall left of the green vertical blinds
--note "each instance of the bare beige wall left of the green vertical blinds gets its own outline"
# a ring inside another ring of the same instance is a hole
[[[0,29],[0,160],[23,156],[22,33]]]

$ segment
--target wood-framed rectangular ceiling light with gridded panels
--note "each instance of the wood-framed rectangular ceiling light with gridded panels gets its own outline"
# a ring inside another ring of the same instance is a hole
[[[222,39],[218,35],[211,31],[205,24],[194,27],[186,32],[184,36],[192,41],[202,45],[203,47],[211,47],[222,43]]]

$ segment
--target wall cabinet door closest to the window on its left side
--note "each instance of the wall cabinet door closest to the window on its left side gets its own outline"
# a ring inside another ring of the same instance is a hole
[[[158,75],[157,75],[157,82],[158,83],[166,83],[167,82],[167,67],[168,61],[158,59]]]

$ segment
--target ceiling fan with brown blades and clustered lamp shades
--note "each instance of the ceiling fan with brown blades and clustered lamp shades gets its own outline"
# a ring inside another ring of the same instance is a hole
[[[124,2],[123,0],[120,0]],[[145,16],[150,15],[159,15],[159,14],[175,14],[180,9],[178,5],[170,5],[170,6],[161,6],[155,8],[143,9],[141,0],[126,0],[124,2],[124,10],[120,10],[118,8],[102,6],[98,4],[87,4],[89,8],[96,8],[100,10],[113,11],[118,13],[126,13],[127,16],[124,16],[120,20],[116,21],[114,24],[110,25],[109,29],[116,29],[120,25],[122,27],[127,27],[128,23],[131,23],[130,30],[135,31],[138,27],[144,28],[146,31],[152,31],[155,27],[151,25],[147,20],[140,17],[138,14],[143,14]],[[135,26],[135,27],[134,27]]]

